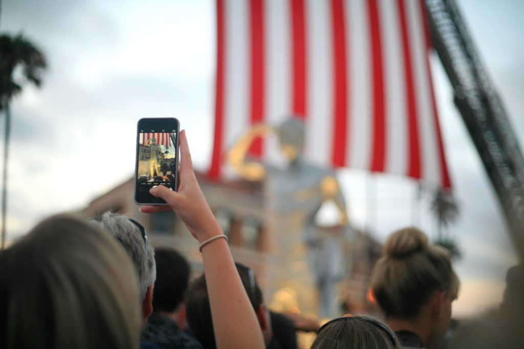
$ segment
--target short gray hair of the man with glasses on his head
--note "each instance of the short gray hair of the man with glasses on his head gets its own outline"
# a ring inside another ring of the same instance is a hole
[[[151,244],[147,244],[146,253],[146,244],[140,229],[126,216],[107,211],[94,220],[102,229],[113,235],[131,257],[138,275],[140,300],[143,300],[147,288],[155,284],[157,276],[155,250]]]

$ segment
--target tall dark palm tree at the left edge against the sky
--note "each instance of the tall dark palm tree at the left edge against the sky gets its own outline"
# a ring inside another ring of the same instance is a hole
[[[46,68],[46,58],[24,35],[0,35],[0,111],[5,111],[4,138],[4,173],[2,182],[2,242],[5,244],[5,226],[7,212],[7,160],[9,154],[9,136],[11,99],[22,91],[22,84],[29,82],[40,87],[41,73]],[[15,74],[15,70],[20,74]],[[16,77],[21,81],[16,81]]]

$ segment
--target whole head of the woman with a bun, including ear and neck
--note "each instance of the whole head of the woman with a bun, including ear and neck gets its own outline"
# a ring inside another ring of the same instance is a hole
[[[427,320],[429,335],[424,344],[429,346],[445,335],[459,279],[447,250],[430,245],[420,230],[405,228],[387,239],[371,275],[371,289],[388,320]]]

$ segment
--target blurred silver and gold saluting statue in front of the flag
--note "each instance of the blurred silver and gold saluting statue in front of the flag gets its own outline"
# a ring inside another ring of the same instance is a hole
[[[253,141],[271,133],[276,133],[280,150],[287,160],[284,167],[247,157]],[[344,244],[340,243],[340,237],[322,233],[315,219],[326,201],[334,202],[339,213],[338,225],[343,232],[348,219],[334,172],[305,161],[303,143],[304,124],[298,119],[289,119],[278,127],[255,125],[228,152],[227,163],[243,178],[265,183],[272,212],[270,224],[274,224],[278,235],[277,255],[282,258],[277,273],[280,287],[292,289],[301,298],[298,301],[301,311],[316,312],[318,309],[308,307],[318,304],[320,299],[319,314],[328,317],[336,312],[335,285],[345,276]],[[341,235],[344,239],[344,233]]]

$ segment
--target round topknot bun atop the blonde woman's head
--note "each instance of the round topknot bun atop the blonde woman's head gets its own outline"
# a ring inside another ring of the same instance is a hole
[[[384,254],[389,257],[405,257],[428,249],[428,237],[417,228],[404,228],[389,235]]]

